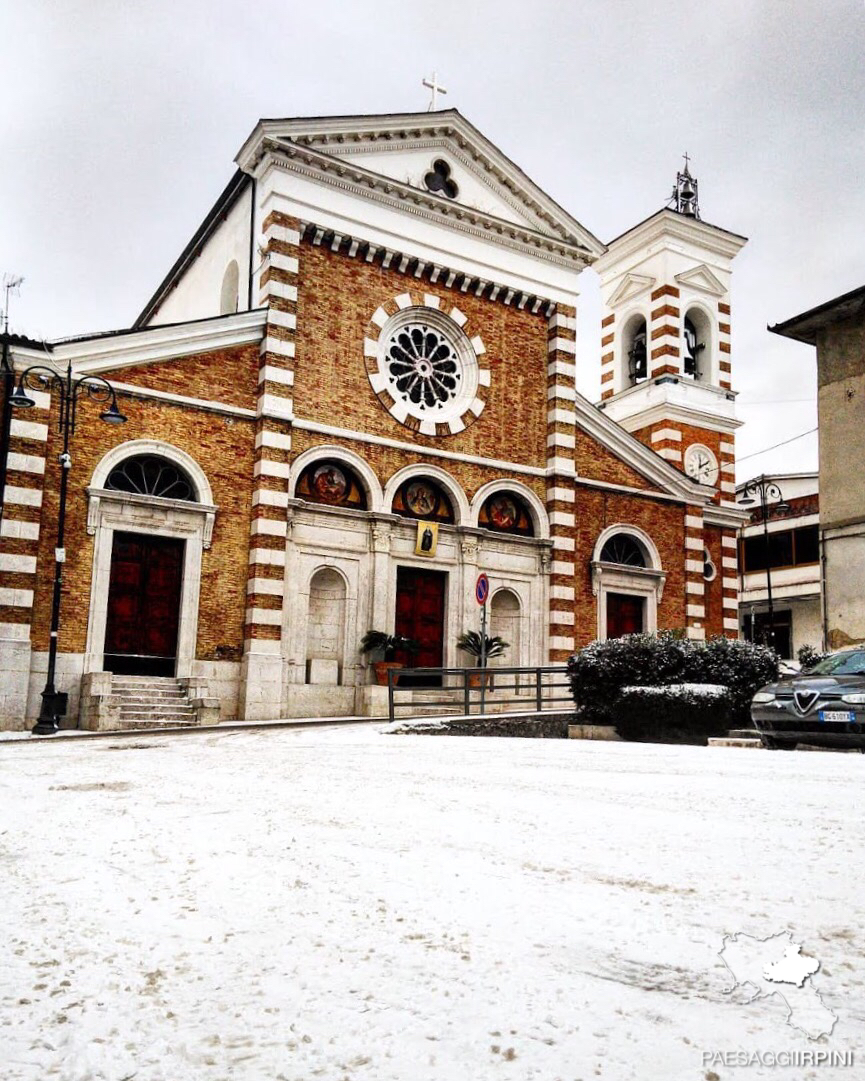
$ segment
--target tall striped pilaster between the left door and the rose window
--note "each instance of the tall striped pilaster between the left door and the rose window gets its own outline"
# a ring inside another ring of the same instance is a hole
[[[260,303],[267,306],[267,324],[258,363],[240,695],[240,715],[247,720],[277,718],[281,711],[300,223],[272,213],[263,237]]]

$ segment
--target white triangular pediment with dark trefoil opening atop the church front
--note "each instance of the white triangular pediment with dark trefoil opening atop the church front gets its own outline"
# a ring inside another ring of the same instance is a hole
[[[237,162],[252,168],[265,146],[305,151],[323,169],[342,164],[346,174],[385,190],[407,189],[521,230],[576,245],[589,256],[603,244],[534,184],[456,109],[385,116],[262,120]],[[437,169],[437,163],[441,163]]]

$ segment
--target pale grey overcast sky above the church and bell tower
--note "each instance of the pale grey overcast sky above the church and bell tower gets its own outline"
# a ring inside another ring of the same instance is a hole
[[[455,106],[601,240],[687,150],[734,264],[738,479],[816,468],[814,350],[766,331],[865,283],[863,0],[6,0],[0,273],[12,328],[129,325],[258,117]],[[599,298],[581,282],[580,389]],[[744,457],[748,455],[748,457]]]

